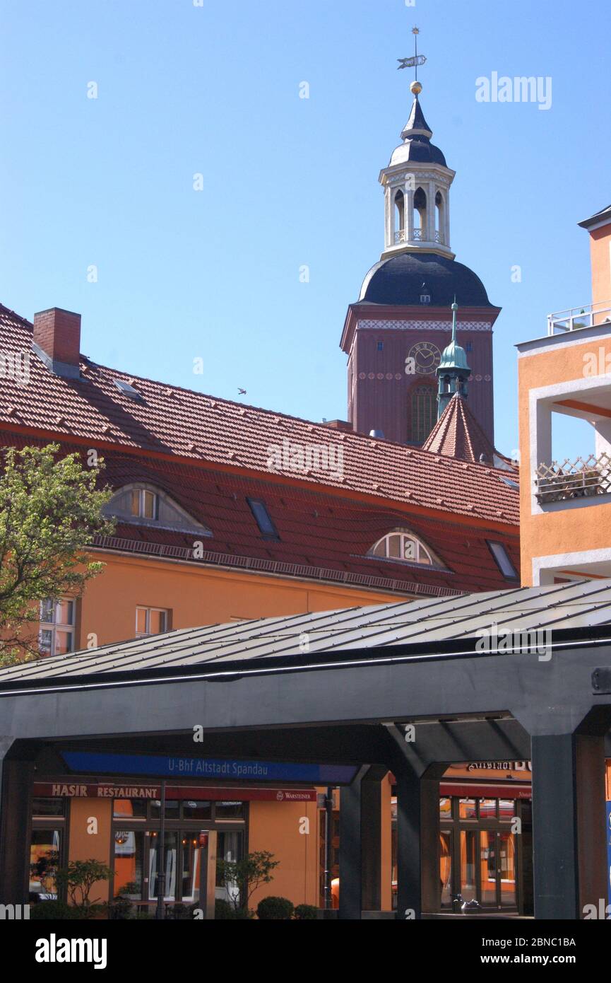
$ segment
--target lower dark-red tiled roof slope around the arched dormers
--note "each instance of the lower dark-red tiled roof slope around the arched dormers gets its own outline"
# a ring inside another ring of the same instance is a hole
[[[22,436],[13,442],[24,446],[45,441]],[[82,447],[63,443],[63,453],[73,451],[80,451],[84,458]],[[392,502],[385,507],[309,486],[283,488],[247,475],[203,471],[179,461],[149,460],[111,451],[104,453],[104,465],[103,480],[112,489],[134,482],[153,485],[213,534],[205,537],[120,522],[112,540],[98,544],[104,549],[193,560],[194,542],[199,541],[205,551],[204,563],[340,583],[345,577],[347,583],[357,586],[414,593],[506,587],[487,539],[502,541],[516,569],[520,565],[517,531],[499,535],[485,527],[455,523],[450,516],[406,516],[403,510],[393,508]],[[279,540],[261,537],[248,497],[265,502]],[[381,537],[398,528],[421,538],[439,557],[442,568],[366,555]]]

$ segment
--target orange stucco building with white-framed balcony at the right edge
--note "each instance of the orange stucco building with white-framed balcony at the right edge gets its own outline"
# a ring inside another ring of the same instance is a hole
[[[592,303],[550,315],[545,337],[518,345],[528,585],[611,576],[611,210],[581,224],[590,232]],[[562,452],[567,416],[583,420],[574,460]]]

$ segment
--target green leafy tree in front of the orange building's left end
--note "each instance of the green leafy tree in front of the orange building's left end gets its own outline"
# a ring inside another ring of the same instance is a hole
[[[111,493],[98,488],[102,459],[83,467],[79,454],[59,450],[50,443],[0,452],[0,665],[39,655],[25,631],[38,620],[37,602],[82,593],[104,565],[84,549],[114,531],[102,514]]]

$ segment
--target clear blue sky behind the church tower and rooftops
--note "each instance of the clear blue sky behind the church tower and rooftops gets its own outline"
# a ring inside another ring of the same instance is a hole
[[[0,300],[81,312],[102,364],[345,418],[339,339],[383,248],[377,176],[417,24],[421,104],[457,171],[452,247],[503,308],[509,451],[515,343],[590,299],[577,222],[611,201],[610,20],[608,0],[0,0]],[[550,76],[551,108],[477,102],[495,71]]]

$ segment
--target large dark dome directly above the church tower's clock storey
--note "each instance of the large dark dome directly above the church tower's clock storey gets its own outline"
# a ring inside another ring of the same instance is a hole
[[[426,291],[422,290],[426,284]],[[369,304],[420,303],[430,294],[431,307],[491,307],[481,280],[469,266],[436,253],[400,253],[372,266],[362,281],[360,301]]]

